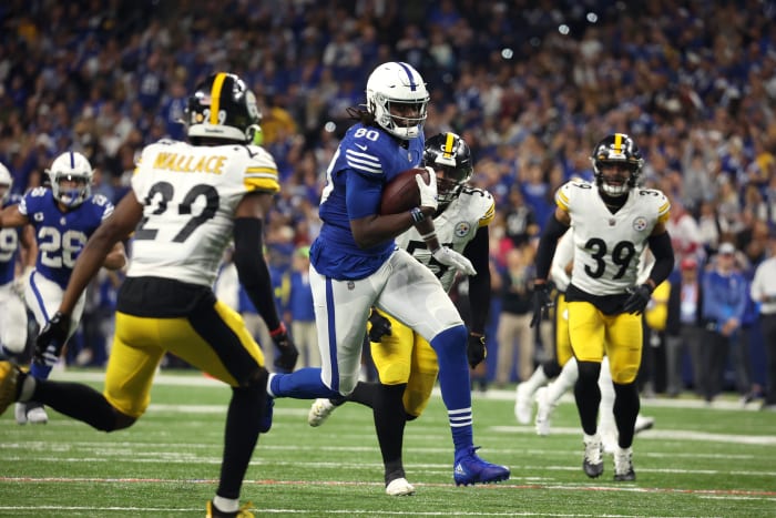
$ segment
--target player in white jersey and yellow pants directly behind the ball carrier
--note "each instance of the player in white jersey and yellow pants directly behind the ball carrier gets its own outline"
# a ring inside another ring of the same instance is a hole
[[[425,165],[437,172],[439,206],[433,215],[437,236],[463,253],[477,270],[469,277],[471,327],[468,338],[469,365],[476,367],[486,356],[484,327],[490,307],[488,225],[493,221],[493,196],[467,184],[473,173],[469,145],[455,133],[440,133],[426,141]],[[397,244],[437,275],[446,292],[456,280],[453,268],[437,264],[415,227],[399,235]],[[420,417],[437,382],[437,355],[422,336],[392,316],[374,309],[369,317],[371,355],[378,383],[358,382],[346,399],[316,399],[307,421],[320,426],[345,400],[372,408],[375,428],[385,467],[386,492],[411,495],[401,447],[405,424]],[[504,474],[506,475],[506,474]]]

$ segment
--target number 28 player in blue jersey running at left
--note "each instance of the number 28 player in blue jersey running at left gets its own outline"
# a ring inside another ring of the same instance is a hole
[[[24,194],[19,204],[0,213],[0,227],[20,227],[29,223],[34,228],[38,260],[24,286],[24,299],[41,328],[57,312],[75,260],[89,236],[113,212],[113,204],[105,196],[92,195],[92,165],[81,153],[60,154],[48,174],[51,189],[35,187]],[[103,265],[118,270],[125,262],[124,246],[116,243]],[[68,339],[78,329],[84,303],[85,295],[82,295],[71,314]],[[37,357],[30,367],[32,376],[47,379],[61,353],[59,349]],[[20,425],[49,420],[43,405],[38,402],[17,404],[16,419]]]

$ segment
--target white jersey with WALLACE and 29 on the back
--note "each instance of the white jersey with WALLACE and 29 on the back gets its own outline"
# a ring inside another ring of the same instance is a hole
[[[248,192],[279,189],[275,161],[255,145],[146,146],[132,177],[143,219],[127,276],[212,286],[239,201]]]

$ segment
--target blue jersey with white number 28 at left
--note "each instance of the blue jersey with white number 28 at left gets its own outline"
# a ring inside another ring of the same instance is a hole
[[[37,187],[24,195],[19,212],[27,215],[35,228],[35,270],[64,288],[75,260],[102,220],[111,215],[113,204],[105,196],[95,194],[81,205],[62,212],[51,190]]]

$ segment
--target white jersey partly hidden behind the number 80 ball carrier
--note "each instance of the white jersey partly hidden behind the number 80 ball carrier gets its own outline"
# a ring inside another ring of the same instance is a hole
[[[474,238],[477,231],[489,225],[494,215],[496,205],[489,192],[464,186],[445,212],[433,219],[437,238],[442,246],[462,253],[466,245]],[[457,271],[433,258],[415,226],[399,235],[396,244],[428,266],[442,283],[446,292],[450,290]]]

